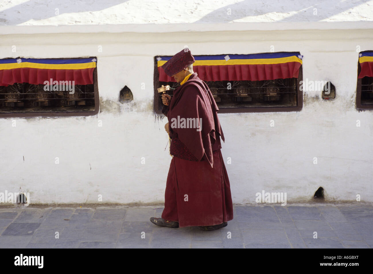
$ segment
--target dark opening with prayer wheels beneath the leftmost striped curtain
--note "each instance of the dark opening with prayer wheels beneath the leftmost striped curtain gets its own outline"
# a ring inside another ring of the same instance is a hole
[[[74,85],[70,94],[68,85],[53,86],[58,90],[44,90],[45,85],[15,83],[0,86],[0,112],[53,112],[93,111],[95,96],[93,84]]]

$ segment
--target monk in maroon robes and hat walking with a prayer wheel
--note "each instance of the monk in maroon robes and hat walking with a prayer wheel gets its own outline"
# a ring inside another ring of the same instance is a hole
[[[228,225],[233,205],[220,138],[225,141],[210,89],[197,73],[190,50],[175,54],[162,68],[180,86],[173,97],[162,95],[162,113],[168,118],[166,131],[173,155],[167,176],[161,218],[157,226],[197,226],[211,231]]]

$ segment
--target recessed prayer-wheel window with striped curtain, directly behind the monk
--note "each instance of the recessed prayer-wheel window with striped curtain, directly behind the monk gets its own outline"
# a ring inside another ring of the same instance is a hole
[[[156,56],[154,66],[154,110],[163,107],[157,88],[170,85],[173,78],[161,66],[172,56]],[[209,86],[219,113],[299,111],[302,57],[296,53],[224,54],[194,56],[194,72]]]

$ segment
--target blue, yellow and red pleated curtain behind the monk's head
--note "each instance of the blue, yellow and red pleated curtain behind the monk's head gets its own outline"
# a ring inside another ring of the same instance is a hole
[[[295,52],[228,54],[194,56],[194,72],[204,81],[258,81],[298,78],[303,56]],[[159,81],[175,82],[164,73],[162,65],[171,56],[160,56],[158,60]]]

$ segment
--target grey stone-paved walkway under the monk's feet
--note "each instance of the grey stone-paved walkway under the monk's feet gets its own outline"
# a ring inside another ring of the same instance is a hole
[[[149,218],[160,217],[162,210],[0,207],[0,248],[373,247],[372,204],[235,205],[234,219],[213,232],[150,223]]]

